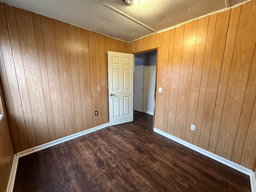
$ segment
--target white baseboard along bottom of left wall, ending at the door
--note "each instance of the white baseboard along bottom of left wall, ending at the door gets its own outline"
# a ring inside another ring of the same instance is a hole
[[[28,155],[28,154],[31,154],[31,153],[34,153],[34,152],[43,150],[43,149],[45,149],[45,148],[48,148],[48,147],[51,147],[51,146],[60,144],[60,143],[62,143],[62,142],[65,142],[65,141],[68,141],[68,140],[70,140],[70,139],[74,139],[74,138],[80,137],[80,136],[82,136],[82,135],[85,135],[85,134],[94,132],[94,131],[96,131],[96,130],[99,130],[99,129],[102,129],[102,128],[108,127],[108,126],[109,126],[109,123],[106,123],[106,124],[103,124],[103,125],[100,125],[100,126],[97,126],[97,127],[94,127],[94,128],[90,128],[90,129],[88,129],[88,130],[81,131],[81,132],[79,132],[79,133],[75,133],[75,134],[72,134],[72,135],[69,135],[69,136],[66,136],[66,137],[63,137],[63,138],[60,138],[60,139],[57,139],[57,140],[54,140],[54,141],[51,141],[51,142],[42,144],[42,145],[39,145],[39,146],[30,148],[30,149],[27,149],[27,150],[18,152],[18,153],[17,153],[17,157],[18,157],[18,158],[23,157],[23,156],[25,156],[25,155]]]

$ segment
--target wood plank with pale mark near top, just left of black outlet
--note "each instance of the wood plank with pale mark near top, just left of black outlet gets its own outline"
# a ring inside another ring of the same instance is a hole
[[[92,119],[92,94],[91,94],[91,76],[90,76],[90,62],[89,62],[89,46],[88,46],[88,30],[81,29],[82,36],[82,53],[84,65],[84,86],[86,98],[86,115],[87,128],[93,127]]]

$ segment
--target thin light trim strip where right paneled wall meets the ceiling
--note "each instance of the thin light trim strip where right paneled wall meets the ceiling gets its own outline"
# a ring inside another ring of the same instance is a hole
[[[220,13],[220,12],[223,12],[223,11],[226,11],[226,10],[229,10],[229,9],[232,9],[232,8],[234,8],[234,7],[238,7],[238,6],[242,5],[242,4],[245,4],[245,3],[250,2],[250,1],[253,1],[253,0],[247,0],[247,1],[244,1],[244,2],[242,2],[242,3],[238,3],[238,4],[233,5],[233,6],[231,6],[231,7],[224,8],[224,9],[221,9],[221,10],[218,10],[218,11],[215,11],[215,12],[212,12],[212,13],[209,13],[209,14],[206,14],[206,15],[203,15],[203,16],[200,16],[200,17],[198,17],[198,18],[194,18],[194,19],[192,19],[192,20],[189,20],[189,21],[186,21],[186,22],[177,24],[177,25],[175,25],[175,26],[172,26],[172,27],[169,27],[169,28],[160,30],[160,31],[158,31],[158,32],[156,32],[156,33],[162,33],[162,32],[164,32],[164,31],[168,31],[168,30],[170,30],[170,29],[173,29],[173,28],[176,28],[176,27],[178,27],[178,26],[181,26],[181,25],[183,25],[183,24],[185,24],[185,23],[188,23],[188,22],[191,22],[191,21],[194,21],[194,20],[197,20],[197,19],[200,19],[200,18],[209,16],[209,15],[212,15],[212,14],[215,14],[215,13]],[[254,1],[256,1],[256,0],[254,0]],[[156,33],[152,33],[152,34],[156,34]],[[150,35],[152,35],[152,34],[146,35],[146,36],[144,36],[144,37],[150,36]],[[142,39],[142,38],[144,38],[144,37],[141,37],[141,38],[138,38],[138,39],[129,41],[128,43],[133,42],[133,41],[136,41],[136,40],[139,40],[139,39]]]

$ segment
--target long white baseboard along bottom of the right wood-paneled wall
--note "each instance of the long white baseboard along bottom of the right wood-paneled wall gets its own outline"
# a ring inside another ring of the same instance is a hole
[[[249,176],[252,175],[252,170],[250,170],[250,169],[248,169],[248,168],[246,168],[244,166],[241,166],[241,165],[236,164],[236,163],[234,163],[234,162],[232,162],[230,160],[227,160],[227,159],[225,159],[223,157],[220,157],[220,156],[218,156],[218,155],[216,155],[214,153],[206,151],[206,150],[204,150],[204,149],[202,149],[202,148],[200,148],[198,146],[195,146],[195,145],[193,145],[191,143],[188,143],[188,142],[186,142],[184,140],[181,140],[181,139],[179,139],[177,137],[174,137],[174,136],[172,136],[172,135],[170,135],[170,134],[168,134],[166,132],[158,130],[157,128],[154,128],[154,132],[156,132],[156,133],[158,133],[158,134],[160,134],[162,136],[165,136],[165,137],[167,137],[167,138],[169,138],[171,140],[174,140],[174,141],[176,141],[176,142],[178,142],[178,143],[180,143],[180,144],[182,144],[182,145],[184,145],[184,146],[186,146],[186,147],[188,147],[188,148],[190,148],[192,150],[195,150],[195,151],[197,151],[197,152],[199,152],[201,154],[204,154],[205,156],[208,156],[208,157],[210,157],[210,158],[212,158],[212,159],[214,159],[214,160],[216,160],[216,161],[218,161],[218,162],[220,162],[222,164],[225,164],[225,165],[227,165],[229,167],[232,167],[233,169],[238,170],[238,171],[240,171],[240,172],[242,172],[242,173],[244,173],[246,175],[249,175]]]

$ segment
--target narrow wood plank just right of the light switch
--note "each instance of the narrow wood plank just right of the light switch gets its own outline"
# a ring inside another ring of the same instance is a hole
[[[174,50],[174,34],[175,34],[175,29],[170,30],[170,42],[169,42],[166,82],[170,82],[171,77],[172,77],[172,58],[173,58],[173,50]],[[171,87],[169,84],[165,85],[165,90],[166,90],[166,99],[167,99],[170,96],[170,91],[171,91]],[[168,114],[168,110],[169,110],[169,103],[165,103],[164,114]],[[168,115],[164,115],[163,128],[162,128],[162,130],[164,132],[168,131],[167,123],[168,123]]]

